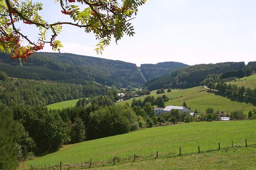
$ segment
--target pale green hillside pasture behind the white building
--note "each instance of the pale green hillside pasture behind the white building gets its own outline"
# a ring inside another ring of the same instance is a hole
[[[206,108],[213,108],[215,111],[224,111],[230,113],[231,111],[240,110],[247,113],[250,110],[256,109],[251,103],[236,102],[227,99],[227,97],[218,96],[214,93],[208,93],[205,88],[195,87],[187,88],[184,90],[172,89],[172,92],[167,93],[166,96],[169,97],[169,101],[165,102],[165,105],[178,105],[182,106],[185,101],[186,104],[191,107],[194,111],[197,109],[199,112],[204,112]],[[156,94],[156,91],[151,92],[151,96],[155,98],[157,96],[162,96],[163,94]],[[144,99],[146,96],[137,97],[136,99]],[[118,105],[124,105],[125,102],[131,104],[132,99],[119,102]]]

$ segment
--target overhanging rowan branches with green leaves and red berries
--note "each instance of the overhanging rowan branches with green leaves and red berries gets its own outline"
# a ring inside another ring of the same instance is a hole
[[[60,51],[61,42],[56,39],[62,26],[71,25],[84,28],[86,33],[93,33],[99,43],[96,52],[102,53],[109,45],[111,38],[116,42],[124,34],[133,36],[134,28],[129,22],[137,14],[138,6],[146,0],[55,0],[59,3],[62,14],[69,16],[73,22],[48,23],[39,11],[43,3],[32,3],[32,0],[0,0],[0,51],[11,53],[12,59],[27,59],[33,51],[44,48],[46,43],[55,51]],[[22,33],[17,23],[29,24],[38,28],[40,35],[37,42]],[[28,45],[21,45],[25,40]]]

